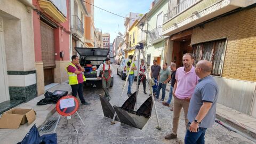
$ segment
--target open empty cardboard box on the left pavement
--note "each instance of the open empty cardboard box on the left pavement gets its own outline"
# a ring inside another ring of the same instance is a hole
[[[0,119],[1,129],[18,129],[21,124],[28,125],[36,119],[34,109],[13,108],[5,111]]]

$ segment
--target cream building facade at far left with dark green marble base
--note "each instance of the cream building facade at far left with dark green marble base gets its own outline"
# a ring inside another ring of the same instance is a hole
[[[1,106],[17,105],[37,96],[33,9],[31,1],[1,1]]]

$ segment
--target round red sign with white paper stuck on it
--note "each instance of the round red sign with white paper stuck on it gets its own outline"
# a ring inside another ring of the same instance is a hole
[[[62,116],[70,116],[76,113],[78,106],[77,99],[71,95],[67,95],[58,100],[56,110]]]

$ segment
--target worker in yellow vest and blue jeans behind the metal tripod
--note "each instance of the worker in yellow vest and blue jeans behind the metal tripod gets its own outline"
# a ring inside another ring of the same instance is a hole
[[[127,91],[128,97],[130,97],[131,94],[132,94],[132,93],[131,93],[131,87],[132,87],[132,83],[133,83],[134,78],[135,78],[135,76],[134,76],[134,70],[137,70],[137,67],[135,66],[135,63],[134,63],[134,62],[133,62],[133,64],[132,64],[132,66],[131,66],[132,58],[133,58],[133,55],[132,55],[132,57],[130,58],[130,60],[127,61],[127,63],[126,63],[126,71],[127,71],[127,74],[126,74],[126,75],[128,75],[128,72],[129,72],[129,70],[130,70],[130,68],[131,68],[130,75],[129,75],[129,77],[128,77],[128,82],[129,82],[128,91]],[[134,59],[134,61],[135,61],[135,59]]]

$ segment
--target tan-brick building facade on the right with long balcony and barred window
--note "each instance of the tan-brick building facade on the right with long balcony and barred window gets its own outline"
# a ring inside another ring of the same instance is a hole
[[[182,54],[212,62],[218,103],[256,117],[256,1],[170,1],[163,35],[172,58]]]

